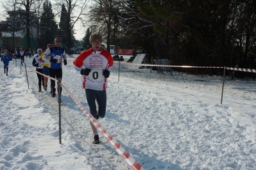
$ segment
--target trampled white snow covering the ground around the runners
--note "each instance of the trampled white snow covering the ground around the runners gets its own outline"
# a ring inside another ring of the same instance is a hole
[[[75,57],[62,84],[89,109]],[[29,87],[19,61],[8,76],[0,63],[0,169],[131,169],[103,134],[92,144],[89,118],[65,90],[59,143],[58,95],[38,92],[32,59],[25,62]],[[115,62],[98,122],[144,169],[256,169],[256,82],[226,77],[220,104],[222,85],[221,76]]]

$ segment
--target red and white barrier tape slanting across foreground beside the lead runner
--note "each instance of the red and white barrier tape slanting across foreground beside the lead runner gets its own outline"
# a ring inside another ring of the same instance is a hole
[[[28,67],[30,68],[30,67]],[[32,68],[30,68],[31,70],[33,70]],[[36,70],[33,70],[35,72],[37,72]],[[40,72],[37,72],[40,73]],[[42,73],[40,73],[41,75],[44,75]],[[44,77],[49,77],[47,75],[44,75]],[[50,79],[53,79],[52,77],[49,77]],[[57,81],[56,79],[53,79],[55,81]],[[62,86],[62,88],[65,89],[65,91],[67,91],[67,93],[71,96],[71,98],[73,98],[74,102],[76,102],[76,104],[78,105],[78,107],[81,109],[81,111],[83,111],[85,113],[85,115],[89,118],[89,120],[92,122],[92,124],[99,130],[99,132],[101,132],[101,134],[103,134],[103,136],[107,139],[107,141],[111,144],[111,146],[114,148],[114,150],[124,159],[124,161],[126,162],[126,164],[128,164],[128,166],[130,166],[132,169],[134,170],[143,170],[143,167],[132,157],[132,155],[130,155],[130,153],[128,153],[126,150],[124,150],[124,148],[121,146],[121,144],[119,144],[114,137],[99,123],[98,120],[96,120],[92,114],[90,114],[89,111],[87,111],[87,109],[85,109],[85,107],[83,107],[83,105],[81,105],[81,103],[74,97],[74,95],[67,89],[65,88],[65,86],[60,83],[60,86]]]

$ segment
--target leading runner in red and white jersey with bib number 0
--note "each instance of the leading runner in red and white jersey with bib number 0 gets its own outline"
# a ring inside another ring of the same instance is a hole
[[[113,59],[107,50],[101,49],[102,36],[92,33],[89,38],[92,48],[81,52],[73,64],[82,75],[82,87],[85,88],[90,114],[94,118],[104,118],[107,106],[107,78],[113,66]],[[98,111],[96,102],[99,106]],[[90,123],[94,134],[94,144],[99,143],[97,128]]]

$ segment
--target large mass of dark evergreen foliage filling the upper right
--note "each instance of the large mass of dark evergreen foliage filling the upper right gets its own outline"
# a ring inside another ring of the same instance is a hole
[[[162,46],[162,52],[169,51],[176,65],[235,66],[237,61],[244,65],[249,52],[255,51],[255,1],[136,0],[136,3],[151,19],[154,30],[164,35],[166,45],[158,49]]]

